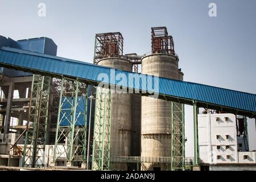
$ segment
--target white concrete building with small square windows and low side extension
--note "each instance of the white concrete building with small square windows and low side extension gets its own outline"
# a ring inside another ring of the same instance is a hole
[[[237,137],[236,122],[234,114],[198,115],[201,162],[209,165],[256,164],[256,152],[245,151],[246,142]]]

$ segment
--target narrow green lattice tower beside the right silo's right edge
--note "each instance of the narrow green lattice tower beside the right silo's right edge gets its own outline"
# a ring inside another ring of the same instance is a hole
[[[172,141],[171,141],[171,170],[185,169],[185,132],[184,132],[184,104],[171,102],[172,113]]]

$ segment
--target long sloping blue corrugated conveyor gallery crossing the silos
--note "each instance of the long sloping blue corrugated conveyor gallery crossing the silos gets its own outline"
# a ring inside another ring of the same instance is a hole
[[[23,68],[31,71],[52,73],[53,75],[71,76],[86,81],[105,82],[117,86],[122,85],[131,89],[156,92],[159,93],[160,96],[170,96],[214,106],[223,106],[230,109],[252,112],[253,114],[256,112],[255,94],[196,84],[193,82],[171,80],[163,77],[155,77],[158,81],[154,81],[150,86],[148,80],[150,80],[152,76],[149,75],[121,71],[62,57],[2,47],[0,48],[0,64],[9,64],[19,69]],[[129,81],[117,81],[115,80],[115,76],[118,74],[123,74],[127,78],[141,77],[141,79],[139,82],[133,83]],[[104,75],[108,79],[104,79]],[[159,88],[156,84],[159,84]]]

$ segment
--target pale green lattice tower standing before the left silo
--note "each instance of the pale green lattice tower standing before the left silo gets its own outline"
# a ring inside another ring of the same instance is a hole
[[[92,170],[110,169],[111,93],[97,88],[93,130]]]

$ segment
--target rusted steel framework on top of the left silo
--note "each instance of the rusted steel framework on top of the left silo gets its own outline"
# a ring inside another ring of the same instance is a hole
[[[96,34],[94,64],[105,57],[121,57],[123,55],[123,36],[120,32]]]

